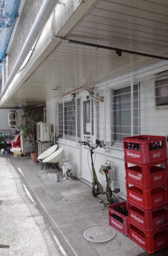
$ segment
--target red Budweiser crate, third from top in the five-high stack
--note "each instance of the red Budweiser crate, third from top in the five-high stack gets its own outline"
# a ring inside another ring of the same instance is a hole
[[[127,201],[137,207],[144,209],[157,208],[167,203],[167,182],[154,186],[135,186],[126,184]]]

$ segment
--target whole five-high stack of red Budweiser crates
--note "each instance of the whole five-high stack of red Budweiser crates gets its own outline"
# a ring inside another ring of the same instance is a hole
[[[168,246],[166,139],[133,136],[123,145],[129,236],[154,253]]]

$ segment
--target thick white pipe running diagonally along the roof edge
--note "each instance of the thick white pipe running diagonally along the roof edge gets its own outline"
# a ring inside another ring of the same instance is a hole
[[[24,42],[24,45],[23,45],[22,50],[18,56],[15,66],[14,66],[13,70],[11,71],[4,88],[2,89],[2,93],[0,94],[0,100],[2,99],[3,95],[7,91],[13,78],[17,74],[17,72],[18,72],[20,66],[22,65],[24,59],[26,58],[27,54],[32,49],[32,46],[34,45],[37,37],[41,33],[44,25],[46,24],[47,20],[49,19],[52,11],[54,10],[54,8],[58,2],[59,2],[59,0],[44,0],[44,3],[37,15],[35,23],[33,24],[33,27]]]

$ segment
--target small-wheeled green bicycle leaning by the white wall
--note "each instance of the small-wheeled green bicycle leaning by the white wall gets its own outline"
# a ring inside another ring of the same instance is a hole
[[[103,191],[103,188],[100,184],[100,182],[97,179],[97,175],[96,175],[96,171],[95,171],[95,167],[94,167],[94,161],[93,161],[93,154],[94,154],[94,150],[99,146],[99,147],[104,147],[105,145],[103,144],[103,141],[100,140],[96,140],[96,144],[91,146],[87,141],[79,141],[80,145],[86,145],[90,148],[90,154],[91,154],[91,164],[92,164],[92,174],[93,174],[93,181],[92,181],[92,195],[94,197],[97,197],[98,195],[102,194],[105,195],[106,194],[106,198],[107,201],[109,202],[108,204],[113,204],[112,201],[112,197],[113,197],[113,193],[119,193],[120,192],[120,188],[116,188],[114,190],[111,190],[110,185],[109,185],[109,179],[107,174],[109,173],[109,169],[111,168],[110,166],[106,166],[103,165],[101,166],[101,171],[103,173],[105,173],[105,177],[106,177],[106,191]],[[102,199],[101,201],[107,205],[107,203],[105,203]]]

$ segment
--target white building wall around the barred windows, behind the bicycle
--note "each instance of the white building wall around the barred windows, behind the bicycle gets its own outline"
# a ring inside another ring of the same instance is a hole
[[[164,67],[165,69],[165,67]],[[163,71],[164,71],[163,69]],[[160,72],[160,68],[159,68]],[[155,70],[155,74],[157,74],[157,69]],[[150,75],[150,74],[149,74]],[[142,76],[138,74],[139,80],[143,79]],[[106,84],[106,115],[104,119],[103,115],[103,108],[104,104],[101,104],[100,108],[100,139],[103,139],[104,137],[104,120],[106,121],[106,141],[108,142],[110,140],[110,87],[117,89],[118,87],[122,88],[125,87],[125,85],[128,86],[129,84],[129,74],[126,76],[126,83],[123,82],[123,77],[118,79],[117,83],[115,83],[115,86],[113,87],[113,80],[111,83],[108,82]],[[122,86],[121,86],[122,84]],[[95,90],[98,90],[95,89]],[[101,93],[102,93],[102,87],[101,87]],[[78,95],[79,96],[79,95]],[[83,95],[82,95],[83,96]],[[151,79],[148,81],[140,82],[140,105],[141,105],[141,111],[140,111],[140,124],[141,124],[141,134],[148,134],[148,135],[161,135],[161,136],[167,136],[168,134],[168,119],[167,116],[167,109],[159,109],[157,110],[155,108],[155,79]],[[51,122],[53,120],[52,113],[53,113],[53,102],[47,102],[47,120],[48,122]],[[82,110],[81,110],[82,111]],[[81,122],[81,130],[82,130],[82,122]],[[81,134],[81,140],[83,139],[83,135]],[[85,179],[92,182],[91,172],[88,166],[91,164],[90,161],[90,155],[88,157],[88,151],[83,149],[83,146],[76,145],[74,141],[68,141],[59,139],[57,142],[59,147],[64,146],[64,158],[70,159],[72,161],[73,166],[73,173],[74,176],[77,178],[82,177],[82,172],[85,171]],[[73,146],[73,147],[72,147]],[[82,152],[82,153],[81,153]],[[82,156],[82,157],[81,157]],[[89,160],[88,160],[89,159]],[[126,187],[125,187],[125,168],[124,168],[124,151],[122,147],[117,146],[109,146],[107,143],[106,150],[103,148],[97,148],[96,150],[96,160],[95,160],[95,169],[98,176],[98,179],[100,183],[105,188],[106,182],[105,177],[99,174],[99,169],[102,164],[106,162],[106,160],[113,162],[113,165],[115,166],[115,184],[114,188],[119,187],[121,192],[120,196],[122,198],[126,198]],[[87,178],[86,178],[87,177]]]

